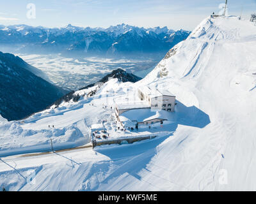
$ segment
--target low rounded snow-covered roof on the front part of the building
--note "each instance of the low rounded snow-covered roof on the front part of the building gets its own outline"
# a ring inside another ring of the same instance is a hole
[[[129,110],[127,112],[122,113],[120,115],[121,122],[125,122],[127,120],[137,121],[137,122],[145,122],[148,120],[154,119],[170,119],[170,112],[166,112],[165,110],[159,110],[157,112],[152,111],[150,108],[147,109],[134,109]]]

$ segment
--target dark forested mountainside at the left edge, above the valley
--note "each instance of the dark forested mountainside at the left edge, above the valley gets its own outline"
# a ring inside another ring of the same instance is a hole
[[[42,73],[20,57],[0,52],[0,115],[19,120],[44,110],[67,90],[36,76]]]

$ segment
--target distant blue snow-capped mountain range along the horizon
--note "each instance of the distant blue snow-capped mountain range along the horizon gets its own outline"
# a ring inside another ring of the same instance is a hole
[[[0,25],[0,46],[15,52],[62,53],[79,55],[140,56],[165,54],[186,40],[190,32],[167,27],[145,29],[131,25],[104,28],[32,27],[29,25]]]

